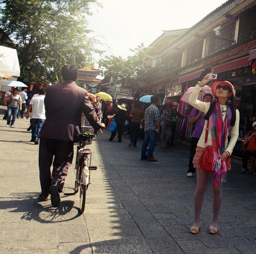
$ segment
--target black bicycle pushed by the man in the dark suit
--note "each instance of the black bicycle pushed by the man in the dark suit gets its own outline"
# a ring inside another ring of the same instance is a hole
[[[90,184],[91,170],[96,170],[97,166],[91,166],[92,150],[88,149],[87,144],[92,143],[93,134],[79,134],[77,145],[77,154],[75,162],[76,179],[73,193],[64,193],[64,195],[70,196],[75,195],[79,191],[79,211],[84,212],[86,191]],[[90,155],[90,156],[89,156]]]

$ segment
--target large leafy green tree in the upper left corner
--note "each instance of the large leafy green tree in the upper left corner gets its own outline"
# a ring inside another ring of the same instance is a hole
[[[17,45],[21,75],[30,68],[34,78],[61,80],[61,67],[91,64],[99,43],[88,36],[87,19],[97,0],[3,0],[1,28]]]

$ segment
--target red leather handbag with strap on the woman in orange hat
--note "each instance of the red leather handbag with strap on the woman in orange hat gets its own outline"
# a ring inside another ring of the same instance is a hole
[[[209,127],[209,120],[207,122],[207,126],[205,129],[205,139],[204,139],[205,143],[207,142],[207,138],[208,138],[208,127]],[[228,170],[230,165],[230,156],[227,156],[227,159],[225,160],[225,162]],[[210,173],[213,173],[213,146],[205,147],[200,160],[200,168]]]

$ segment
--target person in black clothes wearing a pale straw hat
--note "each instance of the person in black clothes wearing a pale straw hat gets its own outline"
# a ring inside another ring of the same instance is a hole
[[[118,142],[121,143],[127,109],[125,108],[125,104],[117,105],[117,107],[118,108],[116,109],[116,112],[115,112],[115,122],[116,122],[116,131],[118,133],[118,136],[117,136]],[[116,131],[111,133],[111,136],[108,139],[109,141],[113,141],[113,138],[116,135]]]

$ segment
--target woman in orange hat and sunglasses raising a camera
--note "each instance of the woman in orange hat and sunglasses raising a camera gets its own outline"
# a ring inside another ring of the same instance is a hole
[[[212,103],[197,100],[197,96],[203,86],[210,81],[208,75],[201,82],[198,82],[189,98],[189,103],[193,107],[205,113],[204,129],[197,143],[193,159],[194,167],[197,170],[197,186],[194,195],[195,220],[190,228],[192,234],[198,233],[200,228],[200,213],[209,175],[208,171],[200,167],[204,149],[207,146],[212,146],[213,148],[213,219],[209,227],[209,233],[216,234],[218,231],[218,215],[222,203],[222,182],[226,182],[227,171],[231,169],[230,166],[227,168],[225,161],[231,155],[238,138],[239,111],[234,110],[236,91],[230,82],[219,81],[213,83],[212,93],[215,99]],[[209,122],[208,136],[206,136],[207,122]],[[228,143],[230,128],[231,138]],[[205,141],[206,137],[207,140]]]

